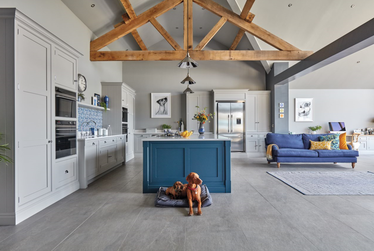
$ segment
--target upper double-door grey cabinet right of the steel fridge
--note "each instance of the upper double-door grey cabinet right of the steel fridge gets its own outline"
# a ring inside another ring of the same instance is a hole
[[[246,131],[270,131],[270,91],[251,91],[245,100]]]

